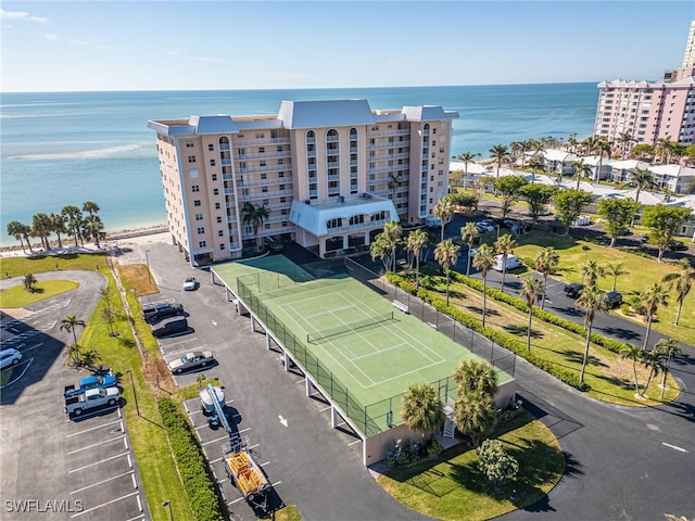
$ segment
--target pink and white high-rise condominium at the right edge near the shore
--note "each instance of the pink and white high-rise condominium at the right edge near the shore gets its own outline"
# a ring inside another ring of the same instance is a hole
[[[632,144],[656,144],[659,139],[695,143],[694,40],[695,22],[683,67],[667,71],[664,79],[599,82],[594,136],[614,143],[620,143],[621,135],[631,136]]]

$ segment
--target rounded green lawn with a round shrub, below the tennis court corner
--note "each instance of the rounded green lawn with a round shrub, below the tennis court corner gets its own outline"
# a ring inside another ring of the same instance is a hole
[[[377,482],[403,505],[425,516],[476,521],[533,505],[563,476],[565,458],[559,443],[528,412],[501,425],[493,437],[503,442],[519,462],[517,478],[500,488],[488,484],[477,468],[476,450],[465,445],[444,452],[434,461],[388,471]]]

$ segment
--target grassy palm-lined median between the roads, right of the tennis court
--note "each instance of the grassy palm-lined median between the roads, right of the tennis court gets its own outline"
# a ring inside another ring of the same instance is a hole
[[[661,390],[656,384],[648,387],[645,398],[635,397],[633,364],[618,354],[624,344],[596,333],[592,333],[593,342],[586,374],[581,383],[579,373],[585,342],[585,330],[582,326],[548,312],[534,309],[531,351],[528,351],[528,308],[525,302],[500,290],[488,288],[488,318],[483,328],[480,314],[483,304],[482,283],[453,274],[450,306],[446,306],[445,279],[433,275],[434,272],[435,268],[426,270],[426,275],[420,277],[420,288],[417,291],[412,274],[406,277],[388,274],[388,279],[565,383],[586,391],[592,397],[619,405],[653,406],[671,402],[679,396],[678,383],[669,374],[664,398],[660,397]],[[640,381],[646,382],[647,368],[637,366],[636,371]]]

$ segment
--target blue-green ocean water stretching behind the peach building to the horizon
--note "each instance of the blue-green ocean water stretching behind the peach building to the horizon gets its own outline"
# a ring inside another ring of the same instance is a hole
[[[442,105],[457,111],[452,153],[542,136],[592,134],[596,84],[362,89],[2,93],[0,245],[11,220],[99,204],[108,231],[166,223],[149,119],[191,114],[277,114],[282,100],[364,98],[372,109]]]

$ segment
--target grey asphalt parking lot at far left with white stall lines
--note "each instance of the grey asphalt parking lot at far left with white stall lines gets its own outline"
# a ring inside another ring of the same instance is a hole
[[[2,347],[23,358],[3,371],[0,390],[0,486],[3,520],[149,519],[127,425],[117,407],[64,411],[63,387],[89,376],[65,366],[72,334],[60,329],[67,315],[96,306],[96,274],[75,272],[79,288],[13,312],[2,321]],[[71,278],[66,272],[48,274]],[[5,284],[13,281],[3,281]]]

